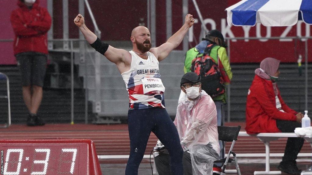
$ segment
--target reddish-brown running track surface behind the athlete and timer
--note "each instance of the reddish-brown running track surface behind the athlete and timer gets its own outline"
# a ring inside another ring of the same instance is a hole
[[[240,122],[226,123],[228,126],[242,126]],[[128,125],[91,125],[91,124],[47,124],[45,126],[29,127],[26,125],[12,125],[0,129],[1,139],[44,139],[44,138],[72,138],[91,139],[95,143],[98,155],[129,155]],[[271,153],[284,153],[287,138],[270,142]],[[151,133],[145,154],[149,155],[157,142],[157,137]],[[228,150],[230,144],[226,145]],[[238,137],[234,146],[239,153],[265,153],[264,144],[256,137]],[[311,153],[311,146],[305,142],[300,153]]]

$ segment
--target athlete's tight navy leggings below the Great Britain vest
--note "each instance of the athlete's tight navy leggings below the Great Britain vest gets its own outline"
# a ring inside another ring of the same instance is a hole
[[[170,153],[170,168],[173,175],[183,174],[183,149],[178,130],[164,108],[129,109],[128,130],[130,138],[130,156],[126,166],[126,175],[138,175],[149,135],[153,132]],[[169,169],[170,169],[169,168]]]

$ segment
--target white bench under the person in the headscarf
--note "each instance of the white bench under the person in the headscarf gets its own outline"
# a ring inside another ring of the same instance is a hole
[[[280,171],[270,171],[270,141],[278,140],[281,137],[298,137],[295,133],[260,133],[260,134],[247,134],[244,131],[240,131],[238,136],[252,136],[257,137],[266,146],[266,171],[255,171],[254,175],[262,174],[281,174]],[[306,134],[304,138],[312,146],[312,135]],[[312,173],[301,173],[301,175],[307,175]]]

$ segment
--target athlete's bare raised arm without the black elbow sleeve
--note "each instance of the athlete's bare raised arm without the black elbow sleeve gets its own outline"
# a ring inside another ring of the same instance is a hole
[[[158,61],[165,59],[173,49],[180,45],[188,29],[193,26],[194,21],[193,15],[186,15],[183,26],[173,34],[166,43],[159,47],[152,48],[150,52],[158,56]]]

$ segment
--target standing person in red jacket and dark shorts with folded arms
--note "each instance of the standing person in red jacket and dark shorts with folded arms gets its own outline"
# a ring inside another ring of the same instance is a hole
[[[18,8],[11,13],[15,33],[14,55],[22,73],[23,99],[29,111],[27,125],[44,125],[37,115],[42,99],[42,86],[46,73],[47,31],[51,17],[39,0],[19,0]]]

